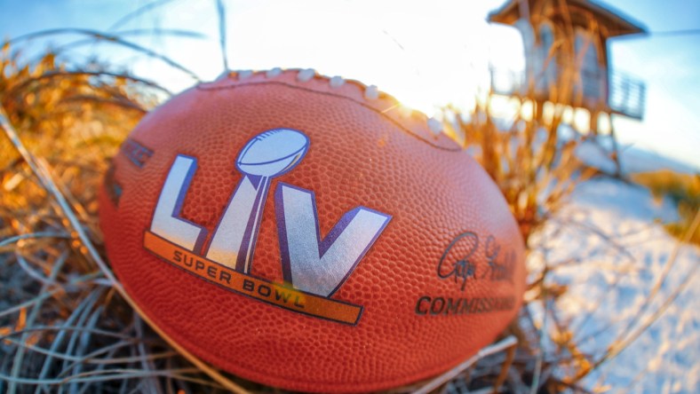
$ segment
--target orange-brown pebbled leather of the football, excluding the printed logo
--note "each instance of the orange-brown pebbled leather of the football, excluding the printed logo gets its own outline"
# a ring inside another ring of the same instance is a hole
[[[99,193],[117,277],[176,342],[256,382],[319,392],[386,390],[456,366],[492,342],[521,306],[524,247],[504,198],[464,151],[429,130],[425,115],[400,114],[386,95],[364,98],[360,83],[333,88],[327,78],[298,82],[297,74],[231,75],[199,85],[131,132],[130,140],[152,154],[142,165],[124,150],[117,154],[110,182],[121,187],[118,202],[108,184]],[[280,128],[302,131],[310,144],[296,168],[271,181],[251,275],[283,281],[273,199],[280,182],[314,192],[321,238],[357,207],[386,213],[391,221],[330,296],[362,306],[356,325],[236,294],[144,248],[178,154],[197,159],[181,217],[208,231],[206,247],[243,177],[235,168],[241,149]],[[459,238],[464,233],[473,235]],[[449,275],[460,262],[475,270],[466,280]],[[501,276],[494,276],[494,263],[505,266]],[[421,297],[430,300],[419,303]],[[458,299],[513,303],[456,313],[431,304],[437,298],[452,299],[452,307]]]

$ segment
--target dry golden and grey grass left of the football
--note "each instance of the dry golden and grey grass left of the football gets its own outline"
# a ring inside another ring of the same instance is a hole
[[[0,391],[218,387],[143,323],[96,264],[99,182],[158,87],[97,66],[68,70],[52,53],[31,67],[19,59],[5,44],[0,105],[28,152],[0,138]]]

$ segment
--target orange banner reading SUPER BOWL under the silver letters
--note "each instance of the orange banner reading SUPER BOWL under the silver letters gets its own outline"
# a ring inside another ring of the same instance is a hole
[[[164,240],[153,232],[145,233],[143,244],[147,250],[168,263],[243,296],[339,323],[354,325],[360,320],[362,306],[316,296],[237,272],[226,265],[195,255],[194,252]]]

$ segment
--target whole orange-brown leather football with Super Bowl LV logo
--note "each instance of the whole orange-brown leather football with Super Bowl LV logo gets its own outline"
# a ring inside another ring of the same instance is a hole
[[[388,390],[517,316],[524,246],[497,186],[374,86],[232,72],[139,123],[99,190],[107,256],[172,343],[285,390]]]

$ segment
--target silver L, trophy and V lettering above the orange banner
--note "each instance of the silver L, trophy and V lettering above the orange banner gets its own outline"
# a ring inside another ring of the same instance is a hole
[[[295,168],[308,147],[306,135],[291,129],[267,130],[248,141],[235,162],[243,177],[204,251],[207,230],[180,217],[197,159],[179,154],[155,206],[151,232],[249,274],[270,181]],[[284,280],[294,288],[320,296],[331,296],[342,286],[391,219],[390,215],[358,206],[340,217],[322,237],[313,191],[280,183],[274,193],[274,206]]]

